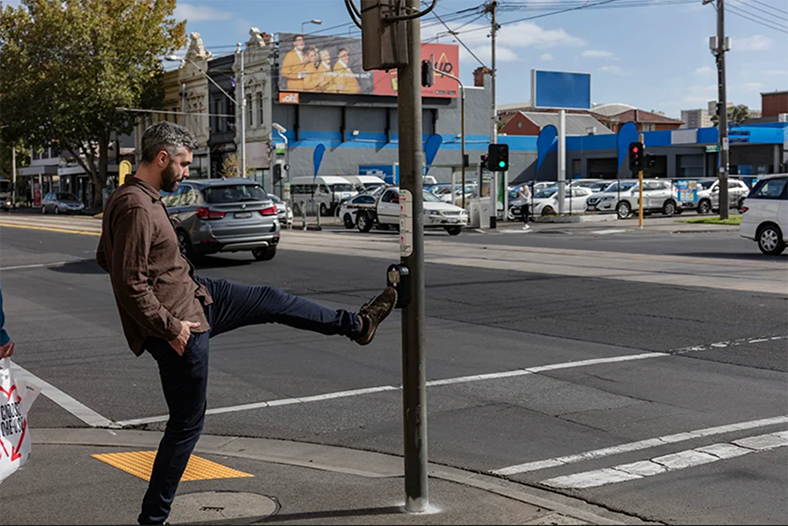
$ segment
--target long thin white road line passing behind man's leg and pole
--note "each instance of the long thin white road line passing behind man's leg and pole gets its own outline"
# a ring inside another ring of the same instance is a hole
[[[509,378],[513,376],[524,376],[528,374],[536,374],[544,371],[555,371],[558,369],[571,369],[575,367],[586,367],[590,365],[600,365],[600,364],[608,364],[608,363],[618,363],[618,362],[627,362],[632,360],[645,360],[648,358],[659,358],[663,356],[670,356],[669,354],[665,353],[643,353],[643,354],[634,354],[634,355],[627,355],[627,356],[613,356],[611,358],[598,358],[594,360],[581,360],[576,362],[565,362],[565,363],[557,363],[551,365],[542,365],[538,367],[529,367],[527,369],[515,369],[513,371],[504,371],[500,373],[490,373],[490,374],[479,374],[479,375],[472,375],[472,376],[461,376],[458,378],[447,378],[444,380],[432,380],[427,382],[427,387],[437,387],[441,385],[450,385],[450,384],[460,384],[460,383],[468,383],[468,382],[478,382],[483,380],[497,380],[500,378]],[[282,405],[293,405],[293,404],[304,404],[310,402],[320,402],[324,400],[334,400],[337,398],[349,398],[352,396],[361,396],[367,395],[372,393],[380,393],[386,391],[399,391],[402,389],[401,385],[394,386],[394,385],[384,385],[380,387],[368,387],[364,389],[354,389],[350,391],[339,391],[336,393],[327,393],[322,395],[315,395],[315,396],[304,396],[300,398],[284,398],[280,400],[271,400],[268,402],[255,402],[251,404],[243,404],[243,405],[235,405],[235,406],[227,406],[227,407],[217,407],[215,409],[208,409],[205,414],[207,415],[216,415],[216,414],[223,414],[223,413],[236,413],[239,411],[249,411],[253,409],[265,409],[268,407],[276,407]],[[152,424],[156,422],[166,422],[169,419],[167,415],[160,415],[160,416],[151,416],[146,418],[136,418],[132,420],[120,420],[117,422],[119,426],[135,426],[135,425],[142,425],[142,424]]]

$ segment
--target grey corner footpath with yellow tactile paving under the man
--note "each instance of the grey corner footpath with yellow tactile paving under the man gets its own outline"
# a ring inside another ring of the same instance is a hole
[[[69,428],[32,436],[30,462],[0,485],[0,523],[136,523],[160,433]],[[408,513],[401,457],[282,440],[205,435],[186,475],[171,524],[646,524],[433,464],[430,510]]]

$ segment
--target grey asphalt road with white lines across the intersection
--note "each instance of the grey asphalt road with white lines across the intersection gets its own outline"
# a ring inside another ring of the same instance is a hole
[[[334,253],[318,254],[288,248],[288,235],[271,262],[211,257],[199,273],[351,309],[384,285],[386,262],[343,255],[342,236]],[[759,256],[735,233],[460,238],[430,237],[447,249],[534,243],[710,264]],[[155,364],[125,346],[109,280],[91,260],[96,240],[0,227],[15,362],[108,419],[161,429]],[[777,261],[788,277],[788,258]],[[646,520],[785,522],[788,447],[774,433],[788,429],[788,296],[452,264],[426,271],[431,461]],[[217,337],[211,356],[209,407],[223,410],[206,432],[401,454],[398,313],[368,347],[259,326]],[[381,386],[391,389],[363,391]],[[289,403],[238,407],[274,400]],[[31,416],[33,428],[80,425],[43,397]],[[753,440],[763,435],[772,438]]]

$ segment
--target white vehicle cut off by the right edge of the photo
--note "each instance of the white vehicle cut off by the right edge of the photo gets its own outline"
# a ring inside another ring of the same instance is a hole
[[[758,243],[771,256],[783,253],[788,243],[788,174],[764,177],[742,206],[739,234]]]

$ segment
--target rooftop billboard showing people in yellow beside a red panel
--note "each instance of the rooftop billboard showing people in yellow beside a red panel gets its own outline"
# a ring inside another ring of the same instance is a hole
[[[435,83],[422,88],[422,96],[457,97],[457,83],[440,72],[459,76],[458,47],[422,44],[421,56],[435,65]],[[364,71],[359,38],[280,33],[279,91],[394,96],[397,71]]]

